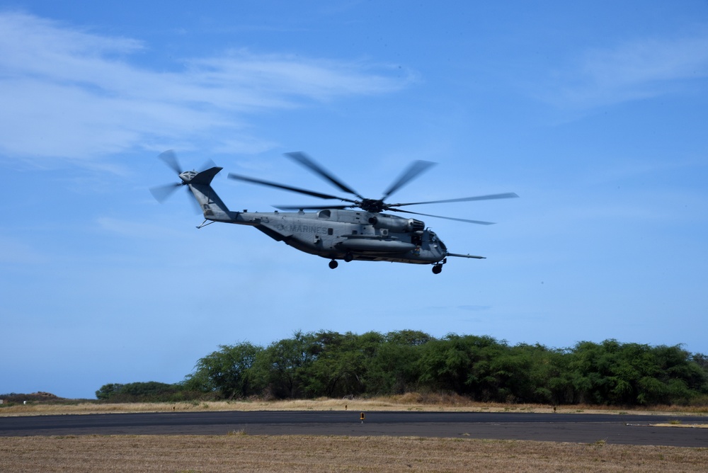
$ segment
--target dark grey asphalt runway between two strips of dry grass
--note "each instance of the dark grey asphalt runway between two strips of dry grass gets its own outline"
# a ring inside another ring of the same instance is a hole
[[[392,435],[708,448],[706,416],[480,412],[210,411],[0,417],[0,437],[25,435]]]

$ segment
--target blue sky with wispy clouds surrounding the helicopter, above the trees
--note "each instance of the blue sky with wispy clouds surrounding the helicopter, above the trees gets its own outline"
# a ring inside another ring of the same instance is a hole
[[[221,344],[401,329],[708,353],[705,1],[0,1],[0,393],[178,382]],[[234,209],[336,193],[304,151],[426,218],[455,258],[341,264],[195,229],[151,186],[224,167]]]

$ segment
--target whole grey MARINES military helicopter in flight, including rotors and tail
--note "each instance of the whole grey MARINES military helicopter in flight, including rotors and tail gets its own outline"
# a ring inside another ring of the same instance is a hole
[[[442,240],[426,224],[415,218],[389,215],[382,212],[399,212],[411,215],[456,220],[474,224],[489,225],[492,222],[479,220],[466,220],[456,217],[442,217],[420,212],[411,212],[399,207],[408,205],[438,204],[453,202],[469,202],[472,200],[491,200],[518,197],[515,193],[492,195],[479,195],[457,199],[431,200],[428,202],[387,203],[386,200],[393,193],[430,169],[435,163],[430,161],[413,161],[404,173],[394,181],[382,198],[365,198],[353,188],[347,186],[341,179],[326,171],[316,164],[306,154],[301,152],[287,153],[297,164],[304,166],[317,176],[336,186],[344,193],[355,198],[341,197],[314,190],[301,189],[285,184],[264,181],[262,179],[241,176],[229,173],[229,178],[236,181],[268,186],[294,193],[309,195],[325,200],[339,200],[343,205],[288,205],[275,206],[275,212],[242,212],[229,210],[211,186],[212,179],[223,168],[211,166],[204,171],[183,171],[175,153],[172,150],[160,154],[158,157],[175,171],[181,182],[151,188],[154,197],[160,202],[164,201],[174,190],[187,186],[191,191],[200,211],[204,215],[204,222],[197,228],[205,227],[214,222],[250,225],[261,230],[275,241],[285,244],[305,253],[314,254],[329,259],[329,267],[338,266],[338,260],[346,261],[392,261],[395,263],[428,264],[433,266],[433,273],[439,274],[442,265],[447,263],[447,258],[484,258],[469,254],[450,253]],[[213,163],[212,163],[213,164]],[[209,165],[207,165],[209,166]],[[297,210],[297,212],[280,212],[281,210]],[[304,212],[315,210],[316,212]]]

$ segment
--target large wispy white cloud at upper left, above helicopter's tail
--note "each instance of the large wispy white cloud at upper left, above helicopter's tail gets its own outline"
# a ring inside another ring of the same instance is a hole
[[[215,149],[253,151],[270,143],[251,135],[250,114],[390,93],[413,77],[363,61],[248,50],[181,58],[183,70],[157,72],[131,62],[144,47],[27,13],[0,13],[0,154],[88,163],[206,135]]]

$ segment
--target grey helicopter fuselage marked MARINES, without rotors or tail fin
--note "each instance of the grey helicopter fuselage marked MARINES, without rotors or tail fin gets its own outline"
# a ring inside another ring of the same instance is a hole
[[[447,256],[445,244],[420,220],[361,210],[228,212],[207,220],[251,225],[305,253],[345,261],[431,264]],[[227,217],[227,218],[224,218]]]

